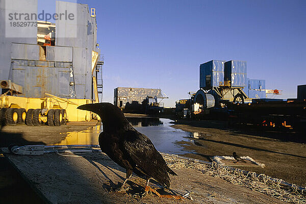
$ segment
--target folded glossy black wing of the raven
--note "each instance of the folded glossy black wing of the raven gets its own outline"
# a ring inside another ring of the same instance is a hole
[[[170,186],[168,173],[176,175],[156,150],[151,140],[136,130],[126,131],[123,148],[135,164],[135,168],[166,187]]]

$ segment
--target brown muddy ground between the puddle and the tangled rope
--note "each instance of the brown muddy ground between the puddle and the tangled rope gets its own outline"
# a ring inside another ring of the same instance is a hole
[[[240,127],[230,129],[222,121],[179,120],[172,127],[199,133],[199,139],[179,142],[187,150],[186,157],[210,161],[211,156],[249,156],[266,165],[244,167],[244,170],[265,173],[289,183],[306,186],[306,138],[286,132],[271,132]]]

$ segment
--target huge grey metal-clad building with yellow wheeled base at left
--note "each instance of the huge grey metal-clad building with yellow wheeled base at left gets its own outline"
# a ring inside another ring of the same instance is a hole
[[[37,1],[30,4],[14,0],[18,6],[11,9],[5,5],[8,2],[0,2],[1,9],[7,13],[37,13]],[[25,37],[8,37],[6,29],[0,29],[0,91],[3,97],[0,108],[31,109],[31,112],[39,109],[37,114],[41,116],[36,119],[40,123],[47,121],[43,115],[46,117],[50,109],[65,110],[61,116],[67,112],[65,119],[70,121],[92,117],[76,108],[102,98],[103,57],[97,43],[96,14],[85,4],[56,1],[56,13],[69,9],[76,18],[73,22],[37,21],[37,27],[27,28]],[[1,21],[1,28],[5,26]],[[33,117],[29,116],[28,124],[32,124]],[[54,120],[55,116],[49,117]]]

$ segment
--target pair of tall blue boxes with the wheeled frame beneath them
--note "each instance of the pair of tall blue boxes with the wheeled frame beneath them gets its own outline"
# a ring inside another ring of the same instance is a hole
[[[197,103],[209,101],[213,104],[211,101],[213,96],[215,104],[212,107],[220,107],[226,101],[242,104],[247,98],[243,91],[245,82],[246,62],[212,60],[203,63],[200,65],[200,90],[194,96],[194,101]],[[203,108],[212,108],[211,104],[204,105]]]

